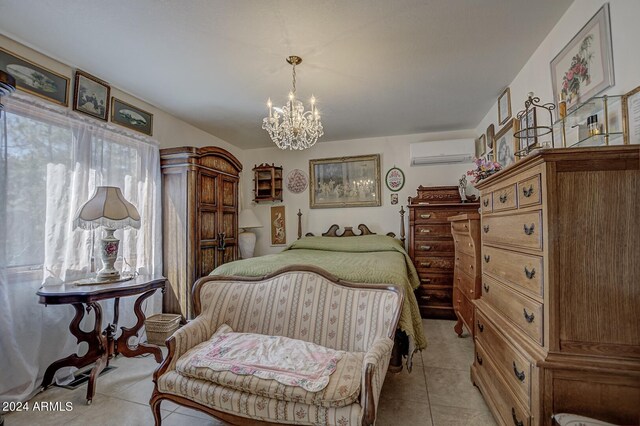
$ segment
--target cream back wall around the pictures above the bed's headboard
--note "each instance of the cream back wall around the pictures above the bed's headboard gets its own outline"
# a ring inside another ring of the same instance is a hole
[[[297,212],[302,210],[303,233],[313,232],[316,235],[326,231],[331,224],[340,226],[357,226],[365,223],[371,230],[378,233],[400,233],[400,206],[406,210],[407,198],[416,195],[419,185],[457,185],[458,179],[471,168],[470,164],[453,164],[437,166],[410,167],[409,146],[415,142],[463,139],[473,137],[472,130],[456,132],[423,133],[415,135],[356,139],[349,141],[318,142],[313,148],[304,151],[281,151],[277,147],[246,150],[244,153],[244,173],[242,179],[243,205],[252,208],[263,228],[254,230],[258,239],[256,242],[256,255],[276,253],[282,247],[271,246],[270,236],[270,206],[280,203],[261,203],[256,205],[253,199],[253,175],[251,169],[260,163],[275,163],[284,167],[286,177],[293,169],[301,169],[309,173],[309,160],[328,157],[342,157],[351,155],[380,154],[380,172],[382,178],[382,206],[380,207],[352,207],[340,209],[310,209],[309,189],[302,194],[293,194],[284,190],[283,204],[286,206],[287,243],[292,243],[297,237]],[[386,172],[393,166],[404,171],[405,185],[398,192],[399,203],[391,205],[390,194],[384,184]],[[407,218],[405,217],[405,226]]]

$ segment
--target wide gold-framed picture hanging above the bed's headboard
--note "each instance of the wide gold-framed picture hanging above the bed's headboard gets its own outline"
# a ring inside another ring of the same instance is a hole
[[[380,199],[380,154],[309,160],[312,209],[376,207]]]

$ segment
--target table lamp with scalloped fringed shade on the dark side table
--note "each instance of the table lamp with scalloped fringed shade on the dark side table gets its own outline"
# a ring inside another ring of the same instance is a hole
[[[120,272],[113,264],[118,258],[120,240],[113,233],[128,226],[140,228],[140,214],[135,206],[124,198],[120,188],[98,186],[91,199],[78,209],[74,225],[82,229],[104,226],[105,236],[100,241],[102,269],[98,271],[96,281],[118,281]]]

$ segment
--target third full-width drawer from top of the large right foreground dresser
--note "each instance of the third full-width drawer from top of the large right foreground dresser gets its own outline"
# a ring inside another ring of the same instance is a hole
[[[518,326],[539,345],[543,344],[542,304],[512,290],[510,287],[482,276],[482,300]]]

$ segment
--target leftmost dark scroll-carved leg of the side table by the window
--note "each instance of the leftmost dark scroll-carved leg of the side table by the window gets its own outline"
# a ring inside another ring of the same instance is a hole
[[[69,324],[69,331],[71,331],[71,334],[73,334],[78,339],[78,343],[87,342],[87,344],[89,345],[89,349],[87,350],[87,353],[82,357],[78,356],[77,354],[71,354],[66,358],[62,358],[53,362],[44,373],[44,378],[42,379],[43,390],[51,385],[51,382],[53,382],[53,376],[55,375],[56,371],[58,371],[58,369],[62,367],[82,368],[91,364],[100,356],[99,345],[102,337],[100,334],[100,326],[98,325],[96,328],[94,328],[94,330],[90,332],[82,331],[80,329],[80,321],[82,321],[82,318],[84,318],[84,306],[82,305],[82,303],[74,303],[73,307],[76,310],[76,314],[73,317],[73,320],[71,320],[71,324]],[[87,306],[87,313],[89,312],[89,310],[90,307]],[[96,320],[98,321],[99,318],[96,318]]]

